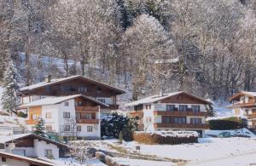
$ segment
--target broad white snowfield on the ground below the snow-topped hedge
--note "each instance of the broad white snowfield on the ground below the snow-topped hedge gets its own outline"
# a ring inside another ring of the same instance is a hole
[[[101,141],[101,140],[98,140]],[[96,141],[94,141],[96,142]],[[126,151],[135,151],[136,146],[141,146],[143,155],[155,155],[172,159],[202,161],[216,157],[230,157],[245,153],[256,152],[255,138],[202,138],[200,143],[182,145],[143,145],[135,141],[125,142],[123,145],[113,144],[113,140],[102,140],[105,144],[111,144],[115,148],[121,146]],[[101,149],[101,146],[94,147]],[[112,151],[109,146],[104,146],[105,151]]]

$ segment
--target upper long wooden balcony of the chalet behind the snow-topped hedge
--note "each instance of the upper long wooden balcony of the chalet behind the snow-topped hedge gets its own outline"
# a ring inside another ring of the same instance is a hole
[[[154,111],[154,115],[160,116],[199,116],[207,117],[207,112],[177,112],[177,111]]]

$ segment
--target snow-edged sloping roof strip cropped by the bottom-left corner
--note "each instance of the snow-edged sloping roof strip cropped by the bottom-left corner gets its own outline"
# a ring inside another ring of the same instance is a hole
[[[45,162],[45,161],[38,160],[35,158],[31,158],[31,157],[23,157],[20,155],[11,154],[9,152],[0,152],[0,157],[11,158],[11,159],[23,162],[23,163],[30,163],[30,164],[34,164],[34,165],[38,165],[38,166],[54,166],[55,165],[54,163]]]

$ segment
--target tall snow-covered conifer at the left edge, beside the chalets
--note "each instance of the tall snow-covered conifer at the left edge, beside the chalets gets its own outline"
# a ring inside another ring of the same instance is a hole
[[[19,74],[12,60],[9,60],[6,71],[3,75],[3,95],[1,104],[7,112],[17,114],[20,106],[20,83]]]

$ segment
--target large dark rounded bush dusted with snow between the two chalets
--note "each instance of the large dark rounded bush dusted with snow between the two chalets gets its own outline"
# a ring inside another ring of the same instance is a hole
[[[102,118],[102,136],[119,139],[119,133],[122,132],[123,139],[131,141],[133,140],[132,133],[137,130],[137,126],[136,119],[113,113],[111,116]]]

